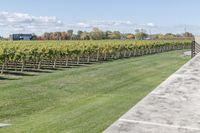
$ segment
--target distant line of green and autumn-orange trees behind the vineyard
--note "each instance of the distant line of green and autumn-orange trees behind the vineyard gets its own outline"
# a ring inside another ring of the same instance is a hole
[[[112,40],[112,39],[134,39],[134,40],[156,40],[172,38],[192,38],[193,34],[185,32],[183,34],[148,34],[144,29],[136,29],[133,33],[121,33],[120,31],[102,31],[93,28],[92,31],[81,31],[75,33],[73,30],[66,32],[45,32],[41,36],[33,36],[33,40]]]

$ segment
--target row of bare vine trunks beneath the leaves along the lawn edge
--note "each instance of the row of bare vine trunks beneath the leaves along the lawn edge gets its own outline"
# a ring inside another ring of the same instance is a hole
[[[38,62],[36,60],[25,60],[11,62],[7,61],[5,64],[1,65],[1,73],[3,71],[30,71],[34,69],[55,69],[55,68],[68,68],[79,66],[83,64],[91,64],[95,62],[103,62],[108,60],[116,60],[122,58],[130,58],[137,57],[149,54],[162,53],[172,50],[181,50],[181,49],[189,49],[191,45],[164,45],[156,48],[148,48],[148,49],[135,49],[134,51],[121,51],[121,52],[112,52],[112,53],[104,53],[104,54],[91,54],[89,56],[77,56],[77,57],[67,57],[66,58],[56,58],[56,59],[43,59]]]

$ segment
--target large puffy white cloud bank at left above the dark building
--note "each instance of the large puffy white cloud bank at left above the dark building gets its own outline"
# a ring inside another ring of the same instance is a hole
[[[0,12],[0,28],[4,34],[41,33],[61,29],[64,23],[55,16],[32,16],[26,13]]]

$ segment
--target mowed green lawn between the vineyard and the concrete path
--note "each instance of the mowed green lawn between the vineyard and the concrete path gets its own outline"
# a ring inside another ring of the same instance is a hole
[[[2,133],[98,133],[190,58],[174,51],[0,80]]]

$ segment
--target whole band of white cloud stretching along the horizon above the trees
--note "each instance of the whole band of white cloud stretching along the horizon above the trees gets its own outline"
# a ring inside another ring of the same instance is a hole
[[[104,31],[124,33],[134,33],[135,29],[145,29],[151,33],[183,33],[186,27],[189,32],[200,33],[200,26],[197,25],[159,26],[153,22],[141,24],[130,20],[87,20],[64,23],[55,16],[33,16],[27,13],[0,11],[0,34],[3,36],[12,33],[42,34],[51,31],[67,31],[68,29],[73,29],[75,32],[78,30],[90,31],[93,27]]]

